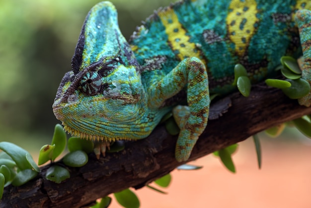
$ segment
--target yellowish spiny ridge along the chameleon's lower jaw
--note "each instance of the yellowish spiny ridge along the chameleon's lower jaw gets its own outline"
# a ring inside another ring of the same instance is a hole
[[[64,129],[67,133],[80,137],[81,139],[86,139],[86,140],[93,140],[93,141],[106,141],[106,142],[115,142],[118,140],[133,140],[130,138],[110,138],[110,137],[104,137],[104,136],[99,136],[99,135],[91,135],[88,133],[80,132],[76,129],[73,129],[72,127],[62,123],[64,125]]]

